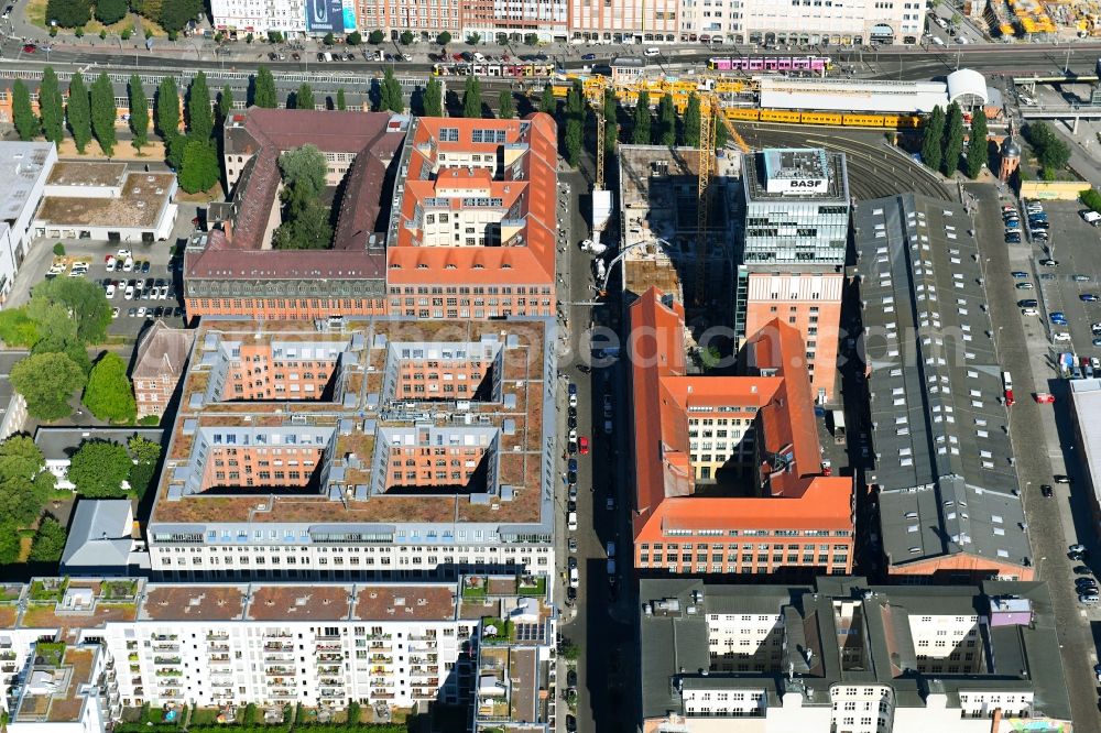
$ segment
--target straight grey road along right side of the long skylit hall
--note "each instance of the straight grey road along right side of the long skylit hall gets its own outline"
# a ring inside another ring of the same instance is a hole
[[[1010,408],[1010,434],[1037,573],[1048,582],[1051,592],[1075,730],[1078,733],[1101,731],[1092,671],[1097,645],[1087,614],[1075,595],[1072,564],[1066,555],[1068,545],[1073,541],[1082,541],[1095,550],[1097,537],[1086,532],[1076,539],[1071,517],[1090,516],[1081,492],[1068,492],[1067,486],[1057,485],[1055,499],[1040,496],[1039,485],[1053,483],[1053,472],[1065,472],[1060,438],[1061,442],[1069,442],[1070,428],[1066,424],[1065,408],[1056,406],[1053,409],[1031,398],[1029,393],[1034,391],[1056,391],[1060,398],[1064,393],[1053,389],[1059,385],[1055,383],[1049,361],[1046,331],[1035,318],[1022,319],[1016,307],[1022,292],[1014,288],[1014,280],[1010,276],[1013,270],[1035,272],[1033,261],[1039,250],[1028,244],[1002,243],[1000,201],[993,186],[973,185],[967,189],[979,198],[975,225],[980,252],[985,258],[986,296],[991,322],[998,332],[999,361],[1021,385],[1020,396]],[[1057,425],[1057,415],[1060,425]]]

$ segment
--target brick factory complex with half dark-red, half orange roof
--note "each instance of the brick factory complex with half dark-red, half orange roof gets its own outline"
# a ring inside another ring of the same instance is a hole
[[[251,108],[226,122],[232,199],[185,254],[188,316],[549,316],[552,119],[461,120]],[[333,247],[273,250],[279,156],[304,144],[342,186]],[[389,302],[388,302],[388,297]]]

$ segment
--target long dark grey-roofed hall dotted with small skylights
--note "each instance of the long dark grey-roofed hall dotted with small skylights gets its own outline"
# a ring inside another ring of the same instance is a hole
[[[887,572],[1035,576],[973,223],[904,195],[853,215],[872,468]]]

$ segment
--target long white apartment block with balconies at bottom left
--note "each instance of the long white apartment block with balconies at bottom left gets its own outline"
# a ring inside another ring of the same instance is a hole
[[[15,723],[86,722],[73,733],[101,731],[121,707],[144,703],[460,703],[486,697],[476,691],[481,675],[475,672],[497,653],[516,674],[490,697],[511,699],[532,723],[547,718],[538,693],[548,687],[557,616],[544,578],[401,584],[54,578],[6,591],[0,681],[13,692]]]

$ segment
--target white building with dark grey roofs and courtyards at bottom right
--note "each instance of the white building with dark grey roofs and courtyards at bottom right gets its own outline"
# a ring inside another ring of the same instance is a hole
[[[1045,583],[641,583],[641,730],[1062,730]],[[733,721],[737,720],[737,723]]]

